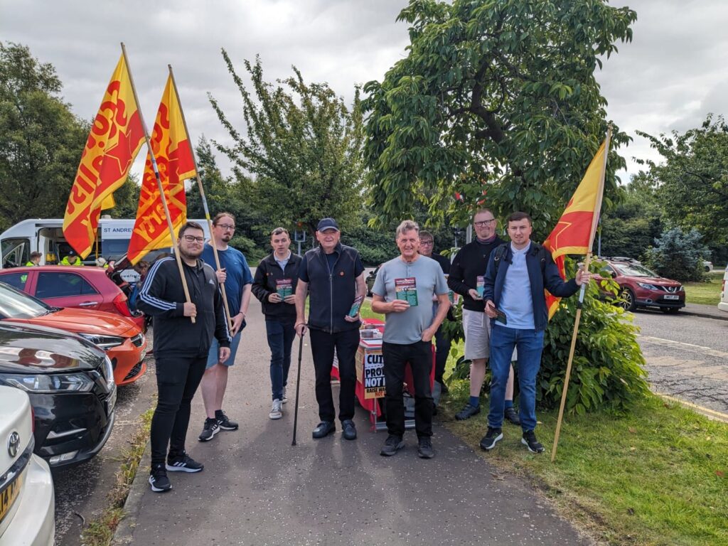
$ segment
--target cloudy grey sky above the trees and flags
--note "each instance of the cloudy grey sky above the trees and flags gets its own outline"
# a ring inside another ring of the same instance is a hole
[[[291,74],[328,82],[350,100],[354,85],[381,79],[404,54],[407,26],[395,23],[406,0],[0,0],[0,40],[28,45],[52,63],[74,112],[91,119],[124,41],[149,126],[175,71],[194,141],[226,142],[207,92],[242,129],[240,95],[221,57],[261,55],[266,79]],[[621,153],[657,159],[636,129],[653,135],[697,127],[708,112],[728,113],[728,1],[613,0],[635,9],[634,39],[597,74],[609,118],[634,142]],[[140,154],[142,155],[142,154]],[[226,162],[218,157],[223,170]],[[135,165],[141,171],[141,161]],[[625,181],[622,173],[622,181]]]

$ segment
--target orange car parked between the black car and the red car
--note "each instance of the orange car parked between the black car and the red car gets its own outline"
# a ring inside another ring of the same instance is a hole
[[[135,323],[118,314],[58,309],[0,282],[0,320],[77,333],[106,351],[117,385],[132,383],[146,372],[146,338]]]

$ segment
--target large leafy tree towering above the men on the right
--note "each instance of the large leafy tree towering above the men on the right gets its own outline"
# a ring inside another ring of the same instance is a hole
[[[365,157],[380,219],[432,194],[438,217],[453,194],[496,213],[526,210],[553,227],[606,133],[594,72],[630,40],[636,14],[604,0],[411,0],[407,56],[368,82]],[[618,130],[612,149],[628,141]],[[610,154],[606,204],[614,171]],[[434,192],[434,193],[433,193]]]

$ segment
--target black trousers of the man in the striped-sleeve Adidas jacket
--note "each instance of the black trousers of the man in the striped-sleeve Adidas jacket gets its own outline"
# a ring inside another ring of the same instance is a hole
[[[207,356],[155,359],[158,398],[151,418],[151,464],[163,464],[167,445],[170,459],[185,451],[190,403],[205,373]]]

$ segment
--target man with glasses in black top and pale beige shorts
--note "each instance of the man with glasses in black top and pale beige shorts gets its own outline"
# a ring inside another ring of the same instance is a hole
[[[491,210],[483,208],[472,218],[475,240],[467,243],[455,255],[448,286],[463,297],[462,328],[465,333],[465,358],[470,360],[470,399],[455,415],[462,421],[480,413],[480,389],[486,378],[486,360],[490,354],[491,322],[485,314],[483,290],[488,258],[491,252],[503,244],[496,235],[497,221]],[[513,424],[519,424],[513,408],[513,368],[508,376],[505,395],[505,416]]]

